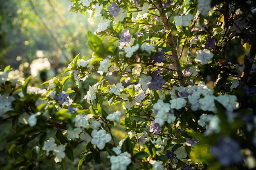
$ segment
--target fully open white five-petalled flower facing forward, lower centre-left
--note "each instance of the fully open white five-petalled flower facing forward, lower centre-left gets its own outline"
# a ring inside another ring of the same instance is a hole
[[[92,141],[93,145],[96,145],[99,149],[103,149],[105,144],[111,140],[111,136],[106,133],[106,130],[92,130]]]

